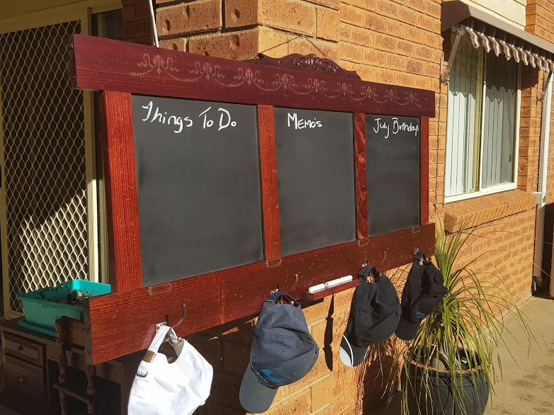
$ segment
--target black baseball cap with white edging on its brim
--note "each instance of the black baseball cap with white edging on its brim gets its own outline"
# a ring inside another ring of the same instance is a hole
[[[371,344],[392,336],[401,314],[397,291],[387,275],[364,266],[358,277],[339,350],[341,362],[349,368],[363,362]]]

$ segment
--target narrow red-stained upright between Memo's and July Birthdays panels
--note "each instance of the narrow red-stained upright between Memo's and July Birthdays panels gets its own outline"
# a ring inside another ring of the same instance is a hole
[[[368,177],[366,174],[366,114],[354,113],[357,238],[368,237]]]

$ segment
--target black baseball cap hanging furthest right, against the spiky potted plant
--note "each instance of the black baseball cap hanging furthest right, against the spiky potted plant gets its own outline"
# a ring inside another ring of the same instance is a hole
[[[434,312],[448,290],[436,266],[428,261],[424,252],[417,252],[402,290],[402,317],[395,331],[397,337],[415,339],[422,320]]]

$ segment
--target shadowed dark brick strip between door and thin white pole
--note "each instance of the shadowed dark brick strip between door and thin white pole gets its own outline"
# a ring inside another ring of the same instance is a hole
[[[152,21],[149,0],[122,0],[123,40],[152,45]]]

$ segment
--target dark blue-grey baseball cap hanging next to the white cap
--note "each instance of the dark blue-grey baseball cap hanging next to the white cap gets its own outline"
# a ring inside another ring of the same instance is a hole
[[[278,387],[307,375],[319,353],[300,303],[283,292],[272,294],[254,328],[250,363],[240,385],[242,407],[254,414],[267,411]]]

